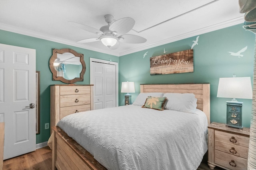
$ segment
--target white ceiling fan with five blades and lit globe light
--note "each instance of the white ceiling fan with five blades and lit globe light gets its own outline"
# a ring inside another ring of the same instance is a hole
[[[80,41],[77,41],[77,43],[90,43],[94,41],[101,41],[110,49],[117,49],[119,47],[119,42],[136,44],[145,43],[147,41],[145,38],[140,37],[138,35],[126,34],[134,26],[134,19],[126,17],[114,21],[114,17],[112,15],[105,15],[104,17],[108,25],[102,26],[100,30],[90,27],[88,25],[83,25],[80,23],[69,21],[69,23],[79,27],[80,29],[84,29],[88,32],[95,33],[98,35],[98,37],[95,38],[82,39]]]

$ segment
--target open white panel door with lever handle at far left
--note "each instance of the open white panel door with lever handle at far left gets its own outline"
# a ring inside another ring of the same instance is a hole
[[[4,159],[36,150],[36,50],[0,44]]]

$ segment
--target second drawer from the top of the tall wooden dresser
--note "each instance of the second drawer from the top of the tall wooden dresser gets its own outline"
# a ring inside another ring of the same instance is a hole
[[[85,105],[90,104],[90,102],[90,94],[60,96],[60,107]]]

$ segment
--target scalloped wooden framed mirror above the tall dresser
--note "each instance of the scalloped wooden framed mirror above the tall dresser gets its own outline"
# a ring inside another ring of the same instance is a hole
[[[86,70],[84,55],[72,49],[52,49],[49,66],[52,80],[68,84],[84,81]]]

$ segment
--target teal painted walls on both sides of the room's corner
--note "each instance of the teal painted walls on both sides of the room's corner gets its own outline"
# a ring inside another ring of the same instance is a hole
[[[44,129],[44,123],[50,122],[50,85],[64,84],[52,81],[49,59],[52,48],[70,48],[84,54],[86,72],[83,82],[76,84],[90,84],[90,57],[119,63],[119,105],[124,105],[124,93],[121,93],[121,82],[134,81],[136,93],[132,94],[132,102],[140,93],[140,84],[150,83],[210,83],[211,121],[225,123],[227,98],[217,98],[218,80],[220,77],[253,76],[254,62],[254,34],[245,31],[242,24],[220,29],[200,35],[198,45],[194,49],[194,72],[150,76],[150,57],[162,55],[164,48],[168,53],[191,49],[195,37],[182,39],[140,52],[116,57],[78,47],[72,47],[53,41],[0,30],[0,43],[36,49],[36,70],[40,71],[40,134],[36,135],[36,143],[48,140],[50,129]],[[244,57],[229,55],[228,51],[237,52],[248,46],[242,53]],[[147,55],[143,58],[144,53]],[[243,125],[250,127],[252,100],[240,99],[243,106]]]

